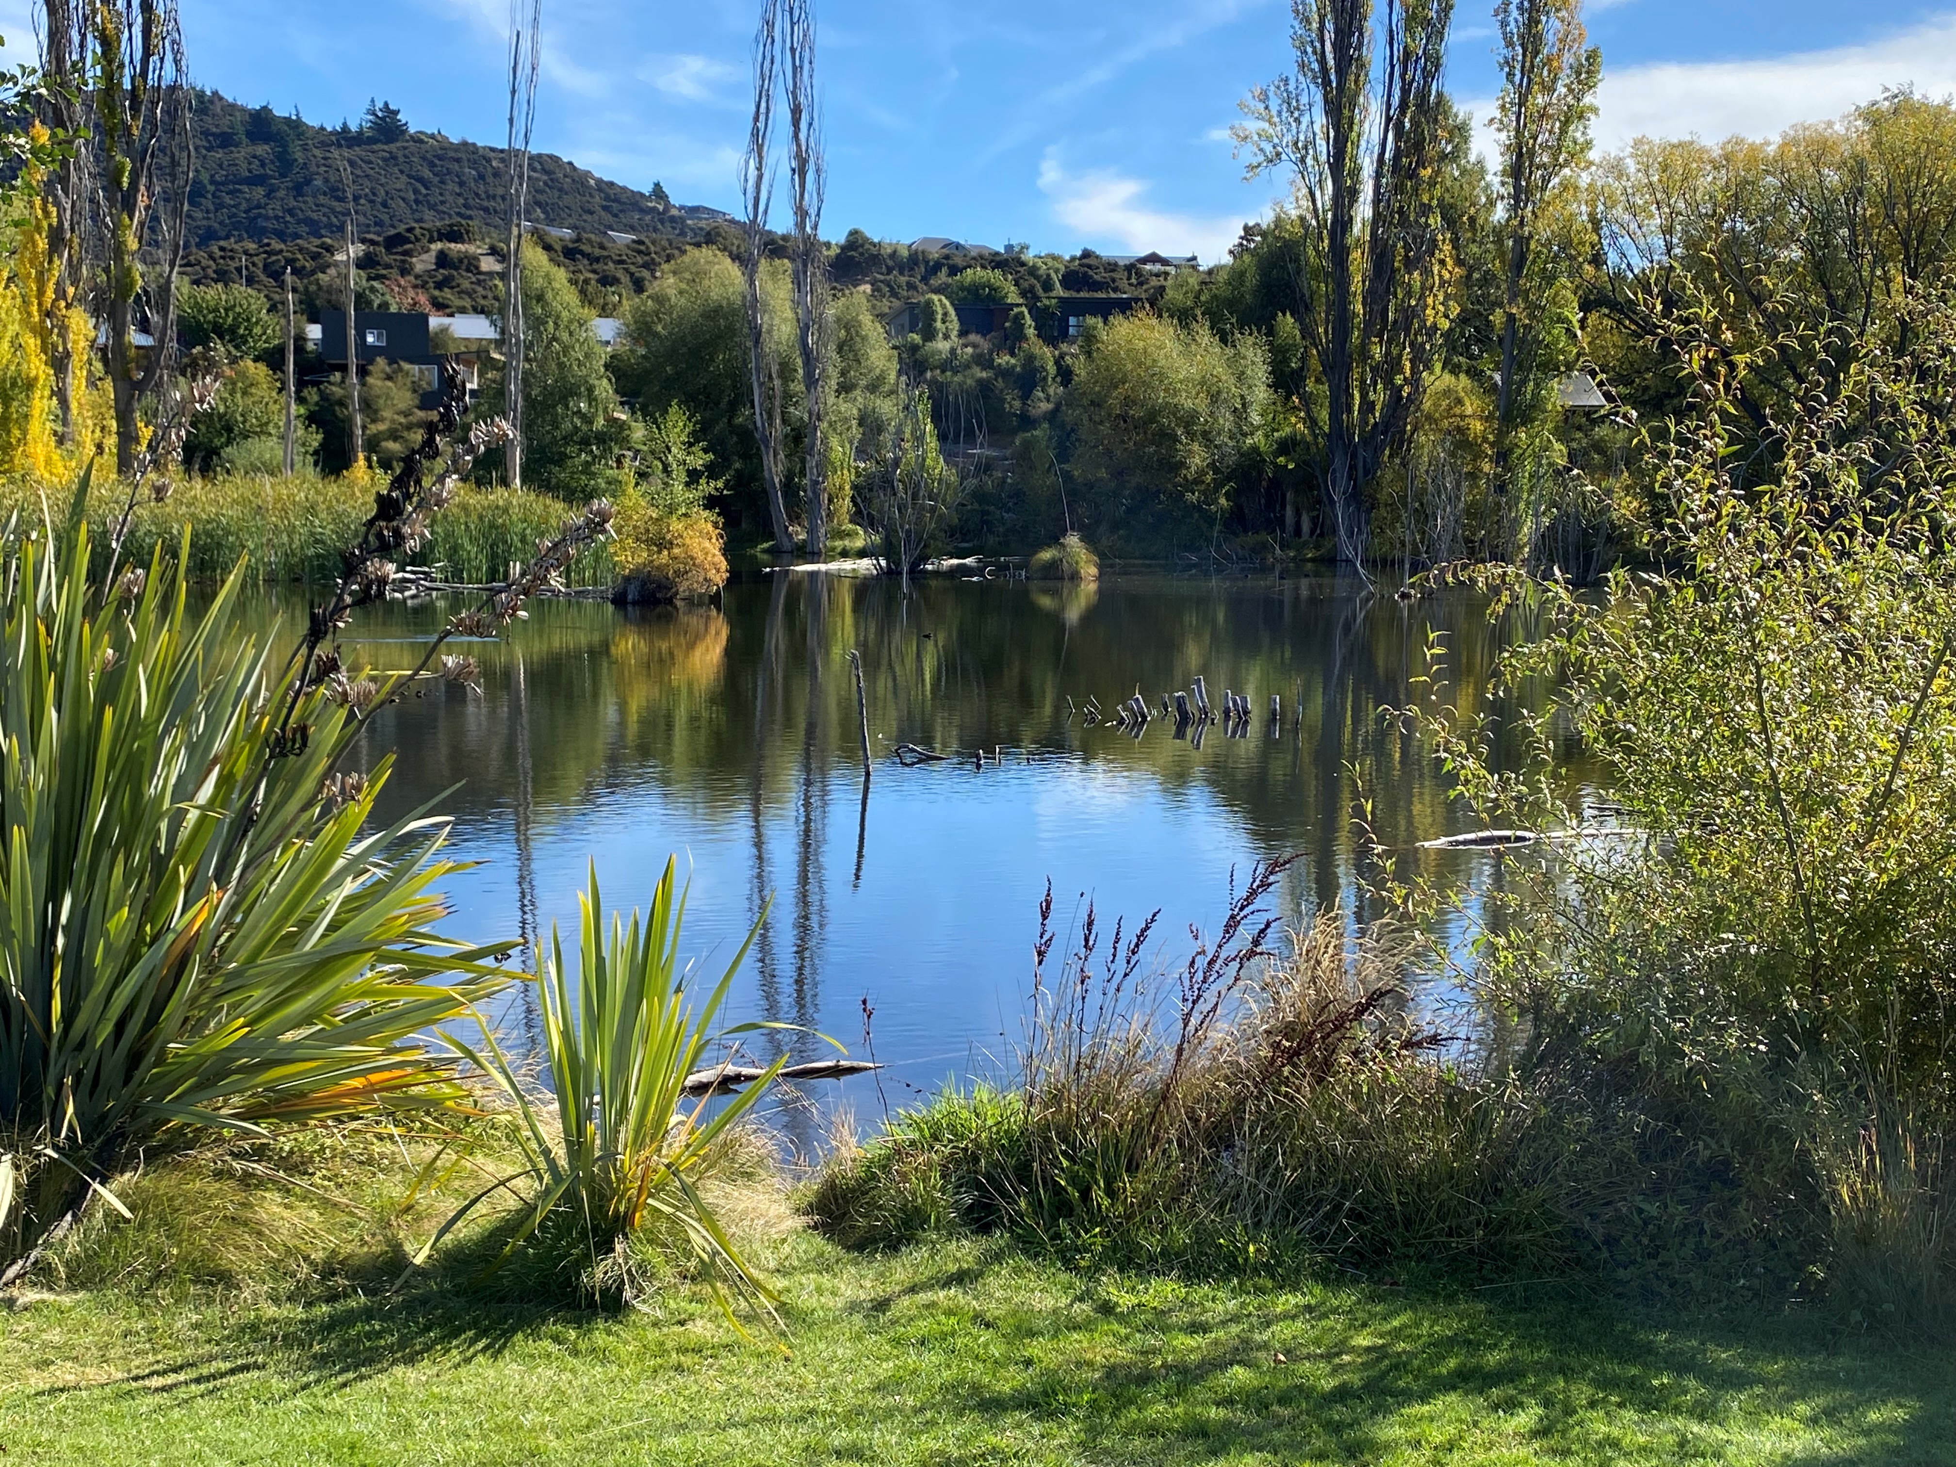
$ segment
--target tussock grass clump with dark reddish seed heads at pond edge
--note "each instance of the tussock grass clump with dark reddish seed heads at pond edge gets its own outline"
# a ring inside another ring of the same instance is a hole
[[[804,1193],[818,1228],[849,1246],[1009,1232],[1080,1262],[1563,1271],[1534,1097],[1436,1058],[1391,927],[1352,947],[1324,915],[1277,951],[1260,904],[1283,865],[1166,980],[1152,919],[1099,949],[1089,910],[1058,982],[1039,978],[1019,1084],[939,1095],[837,1152]],[[1041,962],[1048,919],[1050,896]]]

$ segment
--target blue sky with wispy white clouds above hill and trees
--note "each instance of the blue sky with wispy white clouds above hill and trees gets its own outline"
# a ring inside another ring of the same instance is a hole
[[[501,141],[509,0],[182,0],[200,82],[315,121],[391,100]],[[25,0],[0,0],[16,39]],[[538,147],[734,207],[753,0],[544,0]],[[1275,186],[1224,129],[1285,67],[1285,0],[822,0],[827,233],[1215,258]],[[1956,8],[1604,0],[1598,137],[1772,133],[1884,86],[1956,92]],[[1455,16],[1451,86],[1496,90],[1490,0]],[[548,223],[548,221],[546,221]]]

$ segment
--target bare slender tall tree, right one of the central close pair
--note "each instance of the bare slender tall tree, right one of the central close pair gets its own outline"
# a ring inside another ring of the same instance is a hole
[[[802,356],[804,422],[808,424],[802,483],[808,501],[808,554],[820,559],[829,546],[827,444],[822,438],[829,356],[829,256],[822,248],[827,160],[816,98],[814,0],[784,0],[784,12],[788,22],[788,172],[794,192],[794,321],[796,346]]]

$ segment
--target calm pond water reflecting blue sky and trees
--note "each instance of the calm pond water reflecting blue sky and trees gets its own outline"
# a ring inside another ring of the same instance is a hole
[[[415,634],[444,614],[364,614],[356,659],[409,665]],[[299,602],[254,616],[291,636]],[[467,647],[479,694],[409,698],[376,720],[362,757],[393,749],[387,812],[440,798],[450,849],[481,863],[450,886],[458,935],[575,933],[587,863],[606,904],[630,908],[677,855],[692,878],[689,955],[724,964],[767,906],[734,1017],[861,1050],[867,1000],[896,1103],[1000,1068],[1021,1035],[1048,878],[1062,935],[1088,900],[1103,919],[1160,908],[1162,958],[1176,960],[1258,857],[1303,855],[1287,915],[1352,910],[1359,798],[1410,863],[1438,874],[1487,861],[1410,851],[1469,814],[1379,716],[1422,690],[1408,677],[1436,630],[1453,669],[1444,696],[1471,708],[1496,649],[1475,602],[1402,604],[1334,577],[925,577],[906,599],[888,581],[782,575],[730,585],[724,608],[532,602],[505,642]],[[868,685],[867,800],[851,647]],[[1134,690],[1152,706],[1197,673],[1217,702],[1250,694],[1250,737],[1213,726],[1193,747],[1158,720],[1134,739],[1068,708],[1093,696],[1111,710]],[[898,743],[958,757],[904,769]],[[534,1021],[520,1005],[505,1017]]]

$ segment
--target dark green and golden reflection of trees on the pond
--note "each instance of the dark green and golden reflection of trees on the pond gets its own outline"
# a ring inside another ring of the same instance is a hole
[[[270,622],[272,610],[260,602],[258,614]],[[379,638],[440,620],[438,606],[385,608],[366,624],[374,640],[352,655],[397,665],[403,647]],[[444,808],[464,833],[481,823],[501,837],[512,818],[524,937],[538,919],[536,841],[573,827],[604,788],[649,780],[708,825],[745,823],[751,910],[769,894],[786,898],[755,943],[761,1000],[771,1017],[808,1023],[822,1009],[829,800],[841,790],[857,796],[857,829],[867,829],[851,647],[863,653],[880,751],[900,739],[964,751],[1060,747],[1152,778],[1164,794],[1205,792],[1242,831],[1244,868],[1254,855],[1305,853],[1285,892],[1295,911],[1350,900],[1361,794],[1404,872],[1430,874],[1447,859],[1410,847],[1457,827],[1461,816],[1447,810],[1432,759],[1379,712],[1428,692],[1410,679],[1424,671],[1430,630],[1449,645],[1438,702],[1498,712],[1487,704],[1487,677],[1504,628],[1490,628],[1475,602],[1363,599],[1334,577],[1095,587],[929,577],[906,599],[888,581],[771,575],[765,585],[728,587],[724,608],[540,602],[507,644],[467,647],[483,665],[483,696],[444,685],[376,726],[378,747],[399,755],[385,814],[460,784]],[[1140,741],[1066,722],[1068,696],[1095,694],[1111,706],[1138,687],[1152,706],[1195,673],[1217,692],[1254,698],[1256,737],[1221,739],[1211,730],[1195,751],[1160,722]],[[1285,704],[1281,739],[1266,735],[1271,692]],[[908,782],[964,777],[976,775],[878,761],[872,794],[902,800]],[[794,841],[788,892],[778,890],[769,849],[782,837]],[[1089,876],[1052,874],[1062,884]]]

